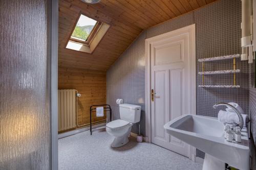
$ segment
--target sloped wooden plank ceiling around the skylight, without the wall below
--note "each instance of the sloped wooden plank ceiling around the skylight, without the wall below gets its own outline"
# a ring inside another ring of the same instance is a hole
[[[58,65],[107,70],[142,30],[214,1],[217,0],[101,0],[89,5],[80,0],[59,0]],[[80,13],[111,25],[93,54],[66,49]]]

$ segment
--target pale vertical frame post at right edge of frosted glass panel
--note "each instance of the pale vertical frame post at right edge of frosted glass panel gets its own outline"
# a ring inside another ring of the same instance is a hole
[[[49,32],[51,43],[51,150],[50,168],[58,169],[58,0],[49,1]]]

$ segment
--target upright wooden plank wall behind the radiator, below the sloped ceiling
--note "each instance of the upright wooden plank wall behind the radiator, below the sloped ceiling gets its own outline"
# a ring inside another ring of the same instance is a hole
[[[106,73],[105,71],[76,68],[58,68],[58,89],[76,89],[78,98],[78,124],[90,125],[90,106],[106,103]],[[92,122],[102,123],[104,117],[92,117]]]

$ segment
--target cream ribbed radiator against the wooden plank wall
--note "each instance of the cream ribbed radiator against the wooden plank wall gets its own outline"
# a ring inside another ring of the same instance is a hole
[[[58,132],[76,127],[77,90],[58,90]]]

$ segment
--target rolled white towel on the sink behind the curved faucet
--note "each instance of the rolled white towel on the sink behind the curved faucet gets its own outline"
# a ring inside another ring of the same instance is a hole
[[[244,119],[244,127],[246,127],[246,124],[249,122],[249,117],[247,114],[242,114],[242,116]],[[225,123],[239,124],[239,117],[238,117],[237,113],[234,113],[234,112],[227,112],[227,111],[220,110],[218,113],[218,120],[220,122],[222,122],[223,124],[225,124]]]

